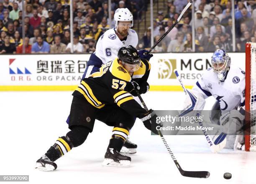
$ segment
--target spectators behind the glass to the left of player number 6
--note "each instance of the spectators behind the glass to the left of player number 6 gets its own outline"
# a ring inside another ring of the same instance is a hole
[[[70,53],[69,0],[0,0],[0,53],[23,53],[22,31],[25,31],[26,53]],[[113,28],[117,8],[128,8],[137,18],[144,0],[112,0],[111,22],[108,1],[73,0],[74,53],[93,53],[97,40]]]

